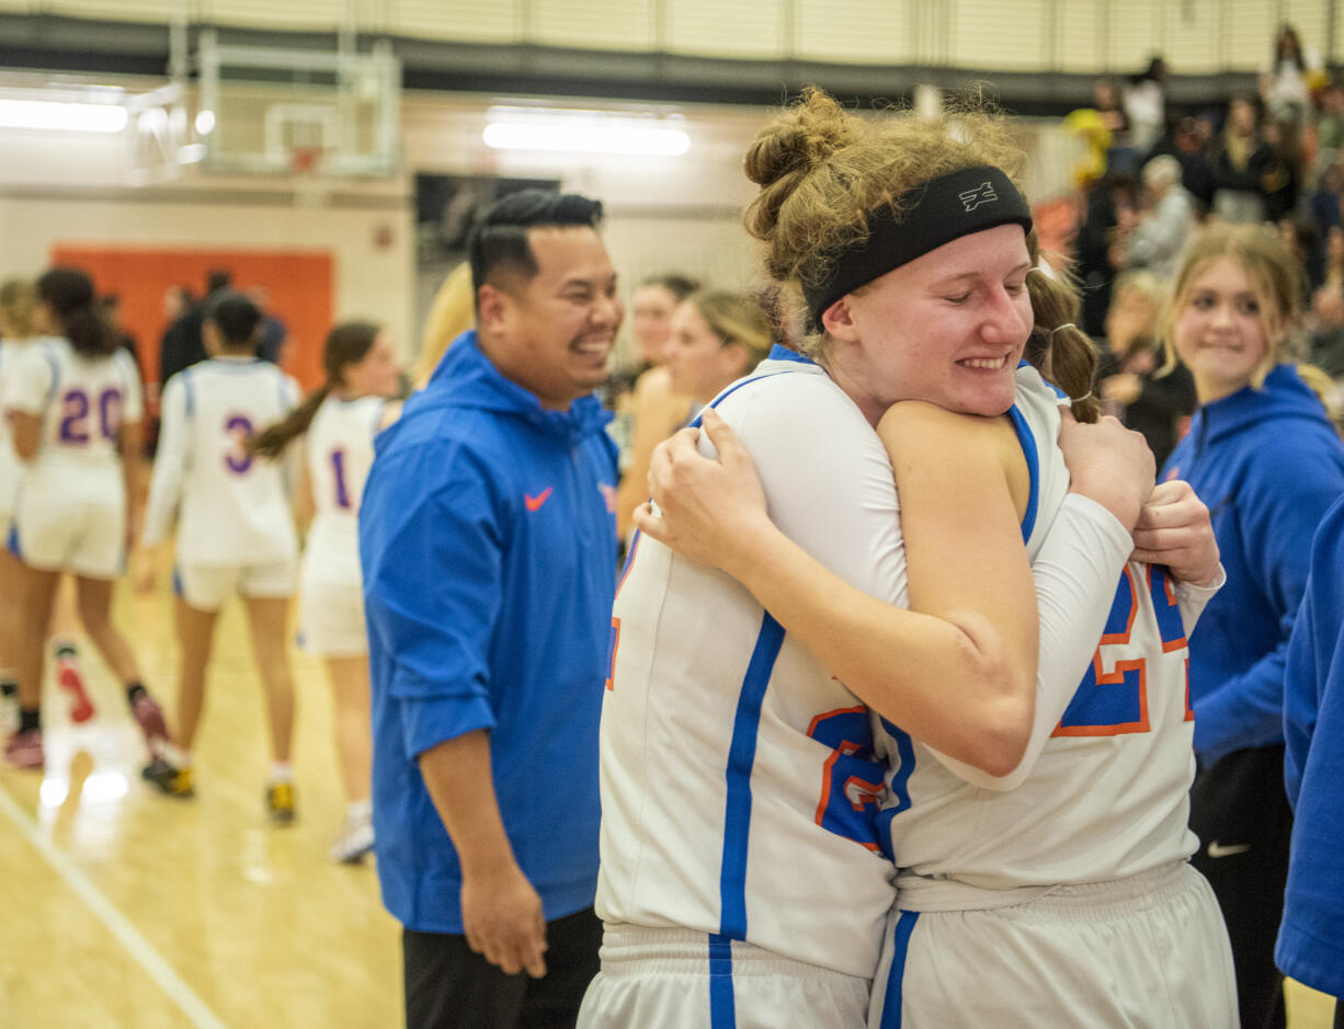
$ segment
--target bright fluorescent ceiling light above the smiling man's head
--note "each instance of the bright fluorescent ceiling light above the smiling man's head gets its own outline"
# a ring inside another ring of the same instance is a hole
[[[691,137],[677,121],[597,110],[491,107],[485,145],[496,150],[680,157]]]

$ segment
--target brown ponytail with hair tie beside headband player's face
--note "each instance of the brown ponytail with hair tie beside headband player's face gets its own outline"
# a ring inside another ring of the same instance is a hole
[[[1028,236],[1028,249],[1032,258],[1039,261],[1035,232]],[[1036,318],[1027,340],[1027,360],[1048,382],[1068,394],[1074,418],[1079,422],[1095,422],[1101,416],[1101,402],[1093,395],[1097,344],[1074,325],[1078,317],[1078,294],[1067,283],[1052,279],[1039,266],[1027,273],[1027,293]]]

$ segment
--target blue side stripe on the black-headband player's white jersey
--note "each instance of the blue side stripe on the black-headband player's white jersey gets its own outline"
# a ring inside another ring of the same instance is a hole
[[[747,938],[747,837],[751,832],[751,766],[755,763],[761,705],[765,701],[774,660],[784,645],[784,626],[766,611],[761,618],[755,649],[747,664],[738,712],[728,747],[727,805],[723,817],[723,864],[719,870],[719,932],[728,939]]]

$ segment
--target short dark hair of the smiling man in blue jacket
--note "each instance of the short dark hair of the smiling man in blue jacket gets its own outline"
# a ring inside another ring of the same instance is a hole
[[[496,200],[477,216],[466,238],[472,292],[478,294],[500,266],[526,279],[536,274],[536,255],[528,243],[527,230],[550,226],[597,228],[601,223],[602,202],[578,193],[520,189]]]

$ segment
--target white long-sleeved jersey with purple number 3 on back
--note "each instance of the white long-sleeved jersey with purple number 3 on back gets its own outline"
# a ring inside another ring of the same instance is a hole
[[[289,414],[297,400],[298,384],[255,357],[216,357],[169,379],[145,510],[145,545],[163,539],[180,502],[180,563],[246,566],[292,559],[298,545],[282,466],[249,454],[245,443]]]

